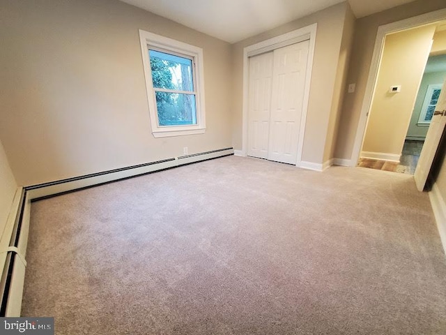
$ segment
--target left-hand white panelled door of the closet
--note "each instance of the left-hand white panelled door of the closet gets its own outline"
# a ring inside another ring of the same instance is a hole
[[[248,156],[268,158],[273,52],[249,58]]]

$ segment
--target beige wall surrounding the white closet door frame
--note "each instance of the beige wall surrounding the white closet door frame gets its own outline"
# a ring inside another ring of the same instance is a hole
[[[302,161],[323,163],[347,3],[284,24],[233,45],[233,147],[242,149],[243,48],[317,22]]]

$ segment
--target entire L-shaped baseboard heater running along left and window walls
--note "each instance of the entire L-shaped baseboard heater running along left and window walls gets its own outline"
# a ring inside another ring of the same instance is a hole
[[[31,202],[61,195],[142,174],[176,168],[181,165],[233,155],[233,148],[217,149],[199,154],[169,158],[162,161],[133,165],[45,184],[17,188],[8,221],[0,237],[0,317],[18,317],[22,308],[26,268]],[[1,233],[1,232],[0,232]]]

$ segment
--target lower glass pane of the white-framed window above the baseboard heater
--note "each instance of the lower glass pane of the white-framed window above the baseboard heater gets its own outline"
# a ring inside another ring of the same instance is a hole
[[[155,92],[160,126],[197,124],[194,94]]]

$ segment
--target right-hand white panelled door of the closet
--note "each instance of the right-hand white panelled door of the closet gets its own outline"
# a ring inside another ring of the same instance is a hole
[[[268,159],[297,163],[309,40],[274,50]]]

